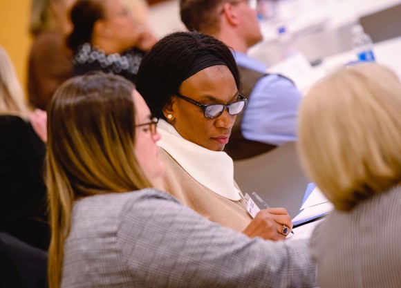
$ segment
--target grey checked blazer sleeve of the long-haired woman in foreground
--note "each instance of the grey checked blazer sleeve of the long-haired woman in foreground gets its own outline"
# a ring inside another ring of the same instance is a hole
[[[251,240],[154,196],[127,204],[118,237],[124,261],[149,287],[315,285],[307,242]]]

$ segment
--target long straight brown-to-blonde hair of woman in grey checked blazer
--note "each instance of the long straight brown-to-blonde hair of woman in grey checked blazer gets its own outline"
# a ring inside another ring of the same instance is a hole
[[[50,288],[60,287],[73,202],[151,186],[134,154],[133,90],[133,84],[120,76],[84,75],[62,84],[49,104]]]

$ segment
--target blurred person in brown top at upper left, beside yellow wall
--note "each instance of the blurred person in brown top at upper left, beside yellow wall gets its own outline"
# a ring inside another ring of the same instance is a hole
[[[28,62],[28,97],[42,110],[53,93],[73,75],[72,52],[66,46],[71,31],[68,10],[75,0],[32,0],[29,32],[33,37]]]

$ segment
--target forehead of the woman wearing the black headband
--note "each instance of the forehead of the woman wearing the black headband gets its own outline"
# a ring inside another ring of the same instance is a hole
[[[232,79],[232,88],[221,87],[222,78]],[[216,94],[216,90],[230,90],[231,93],[229,95],[220,95]],[[185,95],[187,92],[191,92],[192,95]],[[216,65],[207,67],[183,81],[180,86],[180,93],[200,102],[225,103],[236,97],[238,89],[230,69],[225,65]],[[227,97],[230,98],[227,99]]]

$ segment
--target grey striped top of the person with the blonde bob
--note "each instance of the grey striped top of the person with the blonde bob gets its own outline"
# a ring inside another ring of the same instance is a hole
[[[310,243],[321,288],[400,288],[401,186],[331,212]]]

